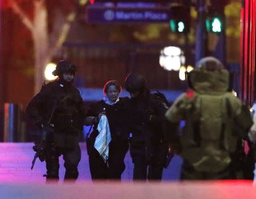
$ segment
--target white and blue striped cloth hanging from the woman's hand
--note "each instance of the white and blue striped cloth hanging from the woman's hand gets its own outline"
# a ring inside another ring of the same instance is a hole
[[[99,152],[100,156],[106,163],[109,157],[109,143],[112,139],[109,129],[109,122],[106,115],[101,116],[97,130],[99,133],[94,142],[94,148],[96,148],[96,150]]]

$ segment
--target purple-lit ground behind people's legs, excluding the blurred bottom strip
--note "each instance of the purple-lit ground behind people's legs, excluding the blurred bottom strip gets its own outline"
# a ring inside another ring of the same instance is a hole
[[[33,143],[0,143],[0,182],[45,182],[43,175],[46,173],[46,163],[36,160],[34,169],[31,170],[31,162],[35,155],[32,150]],[[77,181],[91,181],[86,143],[80,143],[81,161],[79,164],[79,178]],[[60,181],[64,178],[64,160],[60,156]],[[132,181],[133,163],[130,153],[125,157],[126,169],[122,174],[122,181]],[[164,169],[163,180],[179,180],[182,159],[174,156],[167,169]]]

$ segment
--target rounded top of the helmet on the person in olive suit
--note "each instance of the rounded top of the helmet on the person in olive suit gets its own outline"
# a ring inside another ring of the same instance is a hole
[[[224,65],[215,57],[204,57],[196,63],[196,68],[216,71],[224,69]]]

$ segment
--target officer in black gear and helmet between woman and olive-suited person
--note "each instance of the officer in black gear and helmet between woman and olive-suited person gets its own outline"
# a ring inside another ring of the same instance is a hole
[[[168,110],[167,102],[162,100],[161,94],[150,93],[141,74],[129,74],[125,88],[131,96],[130,153],[134,163],[133,179],[161,180],[168,150],[162,126],[164,113]]]

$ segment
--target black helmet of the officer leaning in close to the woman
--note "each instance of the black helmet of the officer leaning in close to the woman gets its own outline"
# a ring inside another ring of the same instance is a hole
[[[146,89],[146,80],[141,74],[130,73],[125,79],[127,92],[142,92]]]

